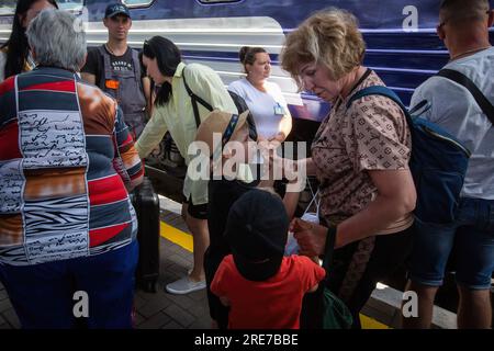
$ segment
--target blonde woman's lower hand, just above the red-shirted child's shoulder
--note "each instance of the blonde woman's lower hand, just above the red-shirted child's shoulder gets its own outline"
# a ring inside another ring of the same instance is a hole
[[[300,254],[313,257],[324,253],[326,248],[327,228],[315,224],[295,218],[290,224],[290,231],[300,246]]]

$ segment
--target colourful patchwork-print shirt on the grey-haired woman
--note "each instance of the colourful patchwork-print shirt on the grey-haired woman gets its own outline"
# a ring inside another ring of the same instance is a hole
[[[0,83],[0,263],[89,257],[135,239],[143,178],[116,102],[77,75],[36,68]]]

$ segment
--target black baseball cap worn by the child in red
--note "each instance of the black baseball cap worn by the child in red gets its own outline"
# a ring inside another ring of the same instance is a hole
[[[278,194],[250,190],[232,206],[225,237],[238,272],[249,281],[276,275],[283,260],[289,217]]]

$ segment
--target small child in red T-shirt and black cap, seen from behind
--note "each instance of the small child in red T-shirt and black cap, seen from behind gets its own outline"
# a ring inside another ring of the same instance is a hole
[[[302,298],[326,272],[303,256],[284,257],[289,218],[281,199],[254,190],[229,211],[225,237],[233,254],[211,291],[229,306],[231,329],[299,329]]]

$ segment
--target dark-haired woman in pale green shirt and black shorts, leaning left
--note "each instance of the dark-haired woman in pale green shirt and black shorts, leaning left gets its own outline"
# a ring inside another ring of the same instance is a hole
[[[189,165],[191,156],[188,148],[195,139],[198,126],[184,78],[190,90],[213,109],[236,114],[237,107],[214,70],[199,64],[186,66],[181,61],[179,48],[165,37],[154,36],[144,43],[143,65],[147,76],[159,89],[153,117],[136,143],[139,157],[148,156],[169,132]],[[209,113],[207,109],[199,104],[201,121]],[[210,242],[206,222],[207,180],[192,181],[188,171],[183,196],[182,215],[193,236],[194,267],[189,275],[166,286],[167,292],[171,294],[188,294],[205,287],[203,261]]]

